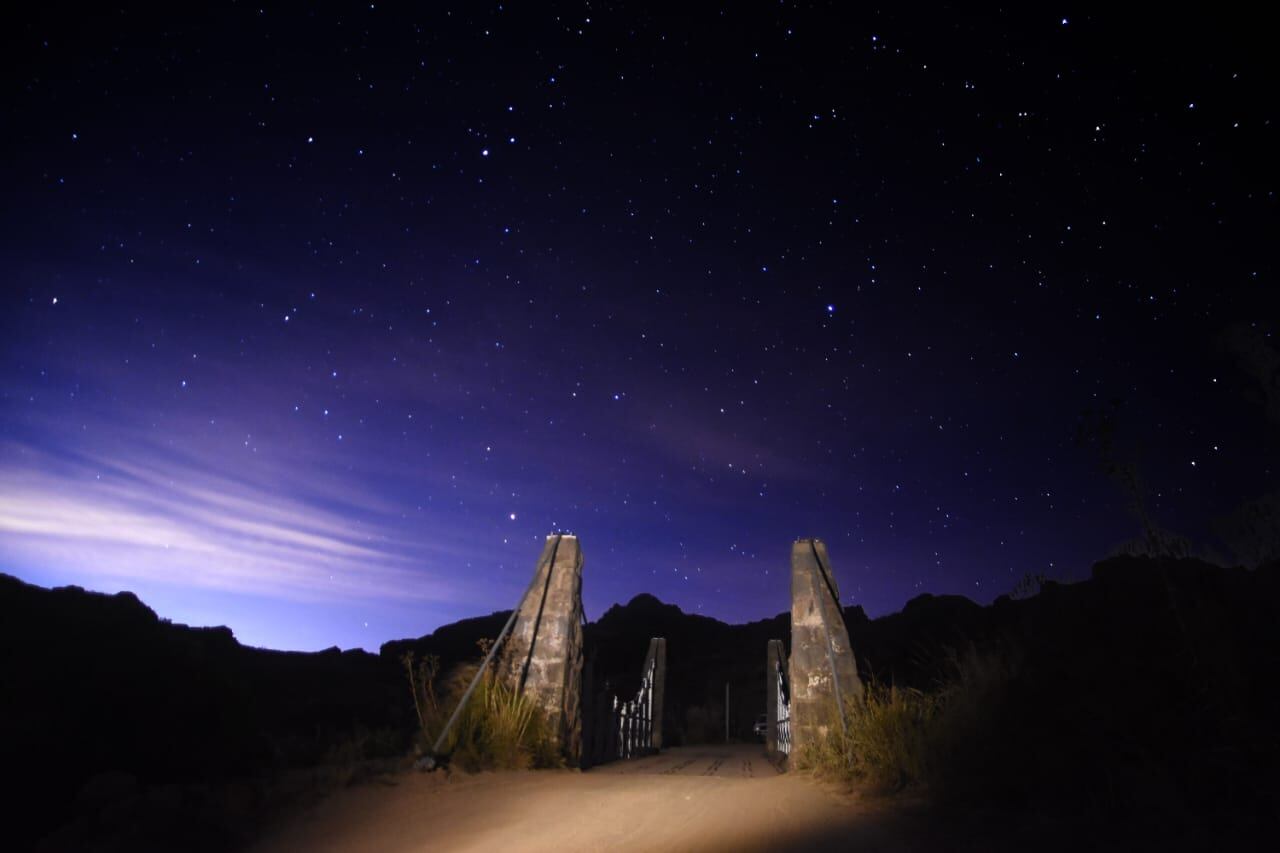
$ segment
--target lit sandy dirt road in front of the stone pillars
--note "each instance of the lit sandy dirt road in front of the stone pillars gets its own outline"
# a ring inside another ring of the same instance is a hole
[[[588,772],[406,774],[275,829],[275,850],[918,849],[910,816],[780,774],[759,745],[686,747]]]

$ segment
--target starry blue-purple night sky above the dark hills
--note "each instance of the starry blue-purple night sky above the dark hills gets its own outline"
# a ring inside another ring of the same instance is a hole
[[[810,535],[873,616],[988,602],[1138,533],[1112,400],[1230,560],[1268,31],[1028,5],[23,6],[0,570],[306,649],[508,608],[553,530],[591,619],[772,616]]]

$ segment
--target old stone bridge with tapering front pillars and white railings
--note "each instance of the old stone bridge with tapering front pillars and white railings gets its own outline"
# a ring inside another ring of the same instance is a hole
[[[654,758],[663,749],[667,640],[653,637],[648,648],[636,649],[639,689],[634,694],[617,695],[607,683],[598,684],[593,649],[586,648],[584,634],[582,566],[577,537],[547,537],[529,588],[475,679],[493,666],[512,690],[529,697],[545,716],[570,766],[588,770],[643,760],[640,768],[622,772],[658,766],[663,772],[682,772],[700,760],[667,765]],[[820,539],[797,539],[791,547],[787,640],[777,638],[760,649],[767,695],[764,754],[756,754],[755,763],[744,758],[745,776],[753,776],[756,765],[783,770],[794,751],[844,726],[846,706],[861,697],[838,584]],[[470,694],[463,695],[454,719]],[[448,725],[435,743],[436,752],[447,735]],[[730,762],[733,766],[736,760]],[[708,772],[722,767],[723,762]]]

